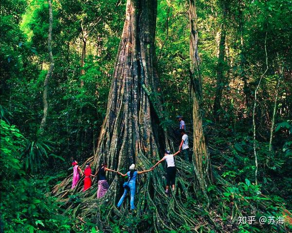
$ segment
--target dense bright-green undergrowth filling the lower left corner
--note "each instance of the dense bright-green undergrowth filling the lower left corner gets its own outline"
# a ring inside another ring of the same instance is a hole
[[[1,225],[5,232],[68,232],[70,221],[58,214],[54,198],[46,197],[46,181],[22,170],[25,138],[15,125],[1,126]],[[46,153],[46,152],[45,152]]]

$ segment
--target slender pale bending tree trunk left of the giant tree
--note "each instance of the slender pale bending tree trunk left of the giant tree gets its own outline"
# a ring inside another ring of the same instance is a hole
[[[53,28],[53,9],[52,9],[52,1],[48,0],[49,3],[49,32],[48,32],[48,50],[49,50],[49,58],[50,58],[50,67],[48,70],[48,73],[46,75],[46,78],[44,80],[44,91],[43,91],[43,105],[44,105],[44,110],[43,110],[43,117],[40,122],[39,126],[39,132],[40,134],[43,134],[44,132],[44,127],[46,125],[46,120],[48,116],[48,83],[49,79],[52,76],[53,69],[54,69],[54,58],[52,54],[52,28]]]

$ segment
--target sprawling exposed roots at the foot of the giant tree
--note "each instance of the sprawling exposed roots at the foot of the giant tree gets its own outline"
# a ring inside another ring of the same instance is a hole
[[[91,162],[92,157],[88,159]],[[88,162],[86,161],[86,162]],[[150,161],[144,155],[139,156],[137,161],[144,164],[146,169],[152,166],[155,160]],[[94,222],[99,230],[111,232],[112,226],[118,223],[124,227],[129,217],[135,218],[139,224],[135,226],[149,226],[147,232],[161,232],[163,230],[174,229],[180,231],[182,228],[189,229],[190,232],[204,232],[209,230],[220,231],[218,224],[207,214],[208,221],[201,216],[202,213],[208,213],[200,208],[200,205],[186,206],[189,198],[197,198],[202,203],[201,193],[194,193],[196,182],[194,169],[191,163],[184,161],[182,158],[176,158],[177,179],[175,192],[170,191],[171,196],[164,193],[166,175],[164,167],[159,166],[153,172],[139,175],[137,181],[137,190],[135,195],[136,213],[128,214],[129,200],[125,200],[121,206],[121,210],[116,209],[116,203],[119,200],[123,188],[122,178],[118,175],[113,177],[110,183],[110,189],[107,194],[100,198],[96,198],[97,183],[93,183],[92,187],[86,192],[82,192],[83,179],[81,179],[74,190],[71,190],[72,176],[68,176],[62,183],[56,185],[53,194],[58,196],[58,201],[67,207],[67,211],[72,210],[72,215],[77,217],[80,222]],[[144,231],[145,231],[144,229]],[[138,230],[137,230],[138,231]]]

